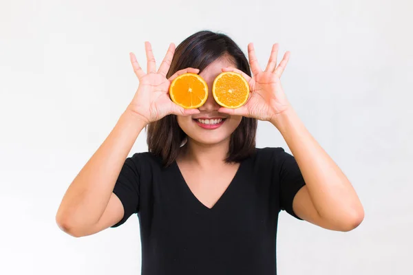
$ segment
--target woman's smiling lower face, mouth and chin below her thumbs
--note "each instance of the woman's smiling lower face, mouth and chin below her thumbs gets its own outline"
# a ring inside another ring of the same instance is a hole
[[[231,134],[240,125],[242,117],[197,119],[191,117],[178,117],[178,124],[187,134],[189,140],[205,145],[229,142]]]

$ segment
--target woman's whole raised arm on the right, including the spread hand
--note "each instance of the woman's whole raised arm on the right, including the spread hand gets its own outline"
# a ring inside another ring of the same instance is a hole
[[[248,57],[253,78],[239,69],[223,69],[242,74],[251,87],[251,96],[238,109],[221,108],[220,111],[271,122],[283,135],[306,183],[293,199],[293,211],[299,218],[330,230],[352,230],[363,221],[363,206],[346,175],[308,133],[290,106],[279,79],[290,52],[284,54],[279,65],[277,53],[278,44],[274,44],[266,69],[262,71],[250,43]]]

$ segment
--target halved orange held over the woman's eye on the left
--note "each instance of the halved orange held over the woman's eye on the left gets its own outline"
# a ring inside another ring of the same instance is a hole
[[[208,85],[198,74],[181,74],[172,80],[169,96],[185,109],[199,108],[207,101]]]

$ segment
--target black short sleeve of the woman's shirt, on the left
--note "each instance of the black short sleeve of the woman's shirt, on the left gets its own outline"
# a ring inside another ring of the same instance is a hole
[[[114,186],[113,192],[120,199],[124,214],[118,223],[111,226],[112,228],[125,223],[132,214],[139,211],[139,184],[140,170],[138,169],[138,153],[136,153],[132,157],[127,157]]]

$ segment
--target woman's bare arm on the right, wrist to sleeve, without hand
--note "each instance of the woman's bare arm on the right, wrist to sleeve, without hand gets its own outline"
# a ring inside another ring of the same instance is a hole
[[[356,228],[364,218],[357,193],[339,166],[310,135],[297,113],[288,109],[272,123],[282,133],[306,181],[306,186],[295,195],[295,214],[329,230]]]

